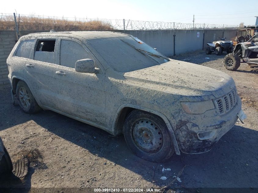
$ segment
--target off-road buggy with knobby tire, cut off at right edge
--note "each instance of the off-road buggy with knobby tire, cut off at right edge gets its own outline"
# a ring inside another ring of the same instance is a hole
[[[225,56],[224,66],[227,70],[237,70],[240,66],[240,58],[250,67],[258,67],[258,32],[247,42],[237,44],[233,53]]]

